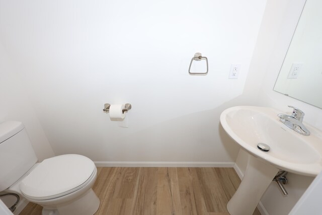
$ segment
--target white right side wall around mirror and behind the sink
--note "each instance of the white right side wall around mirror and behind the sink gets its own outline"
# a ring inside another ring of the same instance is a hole
[[[254,98],[255,105],[273,107],[282,112],[291,111],[287,105],[298,107],[305,112],[304,122],[322,129],[321,109],[273,91],[304,2],[268,1],[243,96]],[[245,171],[247,156],[244,151],[237,156],[236,164],[241,172]],[[313,177],[290,173],[287,178],[285,188],[289,195],[284,196],[272,182],[261,199],[266,209],[263,214],[288,214],[313,180]]]

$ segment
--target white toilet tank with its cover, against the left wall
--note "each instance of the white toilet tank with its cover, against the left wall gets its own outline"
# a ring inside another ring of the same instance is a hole
[[[13,185],[37,160],[22,122],[1,123],[0,192]]]

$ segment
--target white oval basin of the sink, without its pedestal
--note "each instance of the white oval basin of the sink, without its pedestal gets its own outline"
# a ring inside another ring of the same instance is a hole
[[[242,148],[278,169],[306,176],[322,170],[322,138],[311,126],[309,136],[301,135],[279,121],[282,111],[265,107],[237,106],[224,110],[220,122]],[[305,120],[305,118],[304,118]],[[269,152],[257,148],[262,142]]]

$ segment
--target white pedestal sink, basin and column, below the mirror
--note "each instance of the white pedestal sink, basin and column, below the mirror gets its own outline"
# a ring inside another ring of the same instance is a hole
[[[251,154],[244,178],[227,204],[231,215],[252,214],[279,169],[305,176],[322,170],[322,133],[305,124],[311,134],[301,135],[280,122],[279,113],[283,111],[237,106],[220,115],[224,130]],[[270,146],[270,151],[259,150],[259,143]]]

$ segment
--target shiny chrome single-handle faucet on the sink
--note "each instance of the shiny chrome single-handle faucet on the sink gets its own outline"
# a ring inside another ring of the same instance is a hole
[[[303,125],[303,117],[304,112],[300,109],[288,106],[290,108],[293,108],[292,115],[286,115],[283,113],[277,114],[277,116],[280,118],[280,121],[283,122],[287,127],[295,130],[296,132],[303,134],[305,136],[310,135],[310,131],[307,130],[307,128]]]

